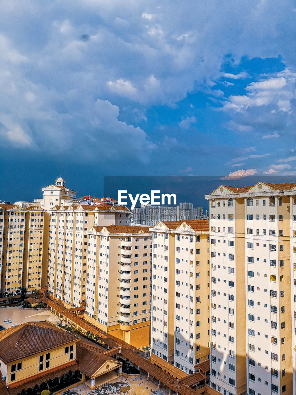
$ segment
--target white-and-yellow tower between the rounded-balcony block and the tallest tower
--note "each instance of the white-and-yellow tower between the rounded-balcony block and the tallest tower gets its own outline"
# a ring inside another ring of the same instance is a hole
[[[151,361],[174,377],[208,359],[209,222],[159,222],[152,241]]]

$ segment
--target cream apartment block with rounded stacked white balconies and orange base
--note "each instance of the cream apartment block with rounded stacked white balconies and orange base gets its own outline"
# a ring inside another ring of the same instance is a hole
[[[87,232],[84,318],[135,348],[150,345],[151,239],[141,226]]]

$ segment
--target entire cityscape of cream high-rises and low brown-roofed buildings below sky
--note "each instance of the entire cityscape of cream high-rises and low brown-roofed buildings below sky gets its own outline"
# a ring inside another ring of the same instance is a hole
[[[295,393],[296,182],[223,184],[209,219],[180,203],[152,225],[62,177],[42,192],[0,204],[1,393],[111,372],[164,393]]]

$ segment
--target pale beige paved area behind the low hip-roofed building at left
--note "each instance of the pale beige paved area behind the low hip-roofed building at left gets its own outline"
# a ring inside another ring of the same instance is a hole
[[[11,320],[10,323],[4,322]],[[11,328],[15,324],[24,324],[29,321],[49,321],[52,324],[60,322],[58,317],[48,310],[23,310],[20,306],[17,307],[2,307],[0,308],[0,325],[5,329]]]

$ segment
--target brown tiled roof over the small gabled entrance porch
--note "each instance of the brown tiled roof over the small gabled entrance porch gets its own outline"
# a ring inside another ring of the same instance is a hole
[[[87,343],[78,343],[76,348],[76,359],[78,361],[78,369],[80,372],[92,377],[96,371],[107,361],[116,362],[122,365],[116,359],[105,355],[96,347],[92,347]]]

